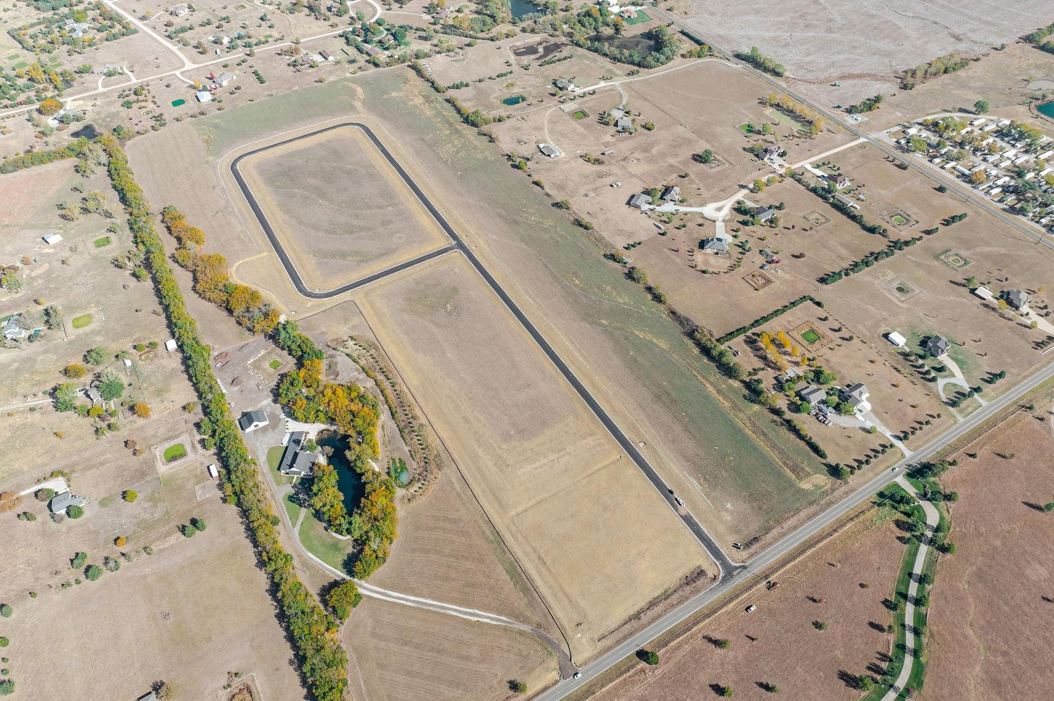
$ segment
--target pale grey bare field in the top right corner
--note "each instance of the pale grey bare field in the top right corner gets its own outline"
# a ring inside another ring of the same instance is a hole
[[[841,92],[822,94],[843,103],[889,93],[881,83],[898,71],[953,51],[981,54],[1051,20],[1043,0],[1015,3],[1012,13],[991,0],[970,5],[794,0],[774,8],[697,0],[691,5],[700,14],[687,24],[704,39],[733,51],[759,46],[804,86],[840,80]]]

